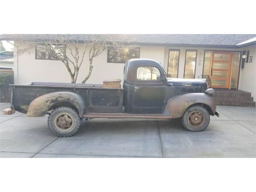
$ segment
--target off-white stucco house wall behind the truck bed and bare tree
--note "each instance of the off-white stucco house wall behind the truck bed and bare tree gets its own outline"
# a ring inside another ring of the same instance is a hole
[[[24,45],[16,42],[19,49]],[[66,67],[58,60],[38,60],[35,59],[35,50],[30,53],[18,55],[15,54],[14,70],[15,84],[30,84],[31,82],[71,82],[70,75]],[[160,46],[140,46],[140,58],[149,58],[164,62],[164,47]],[[82,82],[88,74],[88,52],[80,68],[77,83]],[[102,84],[103,80],[120,78],[123,79],[124,64],[107,63],[107,50],[94,58],[93,70],[86,83]]]

